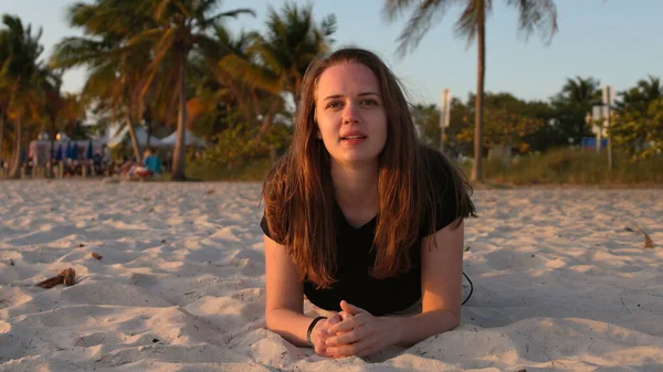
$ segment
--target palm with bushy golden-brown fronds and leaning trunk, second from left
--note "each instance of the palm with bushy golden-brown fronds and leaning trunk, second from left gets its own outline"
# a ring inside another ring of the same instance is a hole
[[[51,66],[87,66],[85,100],[93,103],[97,111],[110,111],[115,120],[125,123],[134,156],[140,161],[135,125],[140,121],[144,91],[149,88],[145,72],[151,59],[149,45],[129,43],[129,39],[155,28],[156,22],[141,2],[122,0],[75,3],[67,17],[70,24],[82,29],[84,36],[65,38],[55,45]]]

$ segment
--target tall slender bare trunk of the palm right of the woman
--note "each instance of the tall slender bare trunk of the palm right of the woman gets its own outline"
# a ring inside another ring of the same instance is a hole
[[[483,155],[483,98],[484,79],[486,76],[486,17],[485,3],[477,1],[477,22],[476,22],[476,45],[477,51],[477,78],[476,78],[476,102],[474,114],[474,166],[470,179],[474,182],[482,180],[482,155]]]

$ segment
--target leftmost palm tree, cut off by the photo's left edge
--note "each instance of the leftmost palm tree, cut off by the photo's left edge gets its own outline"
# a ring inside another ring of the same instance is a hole
[[[10,177],[19,178],[23,152],[22,130],[24,119],[34,119],[44,102],[48,71],[38,62],[43,52],[39,43],[42,31],[32,34],[32,26],[23,26],[21,20],[3,15],[7,29],[0,30],[0,44],[3,47],[0,70],[1,89],[8,94],[7,114],[14,123],[14,156]]]

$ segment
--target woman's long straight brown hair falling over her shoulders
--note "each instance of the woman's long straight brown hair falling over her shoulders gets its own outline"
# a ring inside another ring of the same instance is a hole
[[[360,49],[341,49],[314,61],[304,75],[293,141],[267,174],[263,199],[272,238],[286,246],[301,279],[323,288],[335,281],[337,256],[329,153],[316,136],[315,94],[323,72],[344,63],[360,63],[372,71],[380,84],[388,121],[387,142],[379,158],[380,206],[371,276],[392,277],[411,268],[408,248],[419,240],[421,211],[431,211],[428,231],[434,233],[434,205],[443,192],[433,187],[423,152],[430,149],[419,144],[408,102],[389,67],[373,53]],[[446,180],[455,183],[457,215],[475,215],[464,176],[438,155],[451,170]]]

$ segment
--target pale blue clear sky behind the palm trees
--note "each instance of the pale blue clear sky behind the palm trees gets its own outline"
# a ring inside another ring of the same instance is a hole
[[[139,0],[137,0],[139,1]],[[256,18],[227,21],[240,30],[261,31],[267,9],[281,9],[286,0],[221,0],[220,11],[252,8]],[[305,4],[306,0],[296,0]],[[17,14],[23,23],[43,28],[44,57],[65,36],[80,35],[69,26],[69,0],[0,0],[0,13]],[[319,21],[334,13],[334,47],[356,45],[381,56],[418,104],[439,104],[442,89],[465,99],[476,89],[476,44],[467,47],[456,38],[454,23],[461,8],[451,8],[429,30],[417,50],[399,59],[397,39],[407,14],[388,22],[383,0],[317,0],[313,12]],[[517,11],[506,0],[494,0],[486,25],[487,92],[509,92],[523,99],[547,100],[566,79],[592,76],[615,91],[634,86],[649,74],[663,77],[663,0],[557,0],[559,31],[547,44],[537,34],[525,41],[517,32]],[[78,92],[85,70],[64,75],[63,89]]]

